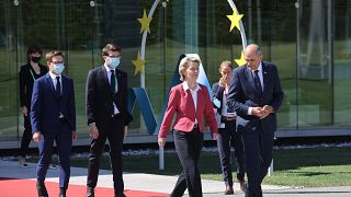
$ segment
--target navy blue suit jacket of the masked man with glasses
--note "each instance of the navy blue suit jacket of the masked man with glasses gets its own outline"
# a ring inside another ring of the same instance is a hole
[[[61,97],[56,96],[49,73],[34,82],[31,108],[32,131],[55,134],[59,129],[60,113],[67,119],[70,129],[76,130],[76,101],[73,80],[61,74]]]

